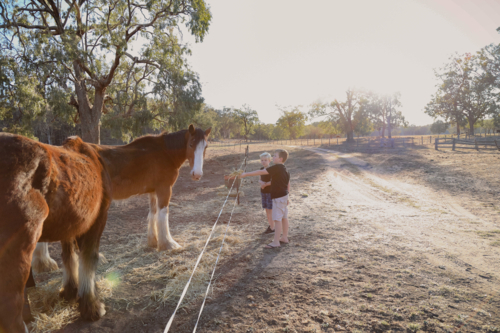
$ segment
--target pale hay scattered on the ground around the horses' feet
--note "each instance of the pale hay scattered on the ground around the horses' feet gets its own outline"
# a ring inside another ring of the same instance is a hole
[[[199,223],[186,223],[176,229],[175,239],[182,245],[180,249],[166,252],[151,251],[146,246],[145,234],[131,234],[103,252],[108,263],[98,268],[97,285],[100,298],[107,308],[119,307],[125,301],[127,308],[140,305],[145,310],[178,301],[211,227],[200,226]],[[206,291],[225,229],[226,225],[219,225],[214,230],[193,276],[184,305],[196,300]],[[244,230],[229,228],[222,250],[222,260],[224,255],[237,250],[244,239],[243,235]],[[62,272],[59,270],[51,275],[52,278],[38,285],[36,289],[31,288],[28,294],[35,318],[31,324],[31,332],[34,333],[61,329],[80,317],[77,303],[68,304],[59,298]],[[122,292],[122,289],[144,284],[155,286],[161,284],[163,287],[139,297],[130,297],[127,296],[129,293]]]

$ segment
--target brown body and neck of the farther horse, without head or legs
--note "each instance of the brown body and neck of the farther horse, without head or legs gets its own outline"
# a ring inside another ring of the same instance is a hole
[[[162,141],[151,138],[125,146],[103,147],[100,155],[111,178],[113,199],[151,192],[160,185],[159,177],[177,172],[186,160],[186,152],[166,150]],[[158,170],[164,172],[160,175]]]

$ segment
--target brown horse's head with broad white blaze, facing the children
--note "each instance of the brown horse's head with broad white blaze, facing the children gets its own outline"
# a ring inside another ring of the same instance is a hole
[[[203,176],[203,158],[205,158],[205,150],[208,146],[208,135],[212,128],[203,131],[199,128],[194,128],[189,125],[189,130],[186,132],[187,149],[186,158],[191,167],[191,178],[200,180]]]

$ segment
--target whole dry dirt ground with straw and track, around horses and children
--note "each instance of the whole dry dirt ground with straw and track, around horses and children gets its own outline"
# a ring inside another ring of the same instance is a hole
[[[274,148],[250,146],[248,170]],[[500,332],[500,153],[325,148],[288,147],[290,244],[279,249],[263,249],[257,178],[244,180],[197,331]],[[222,176],[241,161],[209,148],[200,182],[181,170],[170,213],[181,250],[147,248],[146,197],[113,204],[98,271],[107,314],[59,331],[163,332],[225,200]],[[170,332],[193,331],[231,208]]]

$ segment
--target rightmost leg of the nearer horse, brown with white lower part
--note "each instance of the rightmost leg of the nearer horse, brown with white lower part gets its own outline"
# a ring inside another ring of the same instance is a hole
[[[80,265],[78,269],[78,303],[84,320],[95,321],[106,314],[104,304],[99,301],[95,283],[95,271],[99,261],[99,243],[106,225],[109,202],[103,200],[99,216],[92,227],[77,238],[80,249]]]

